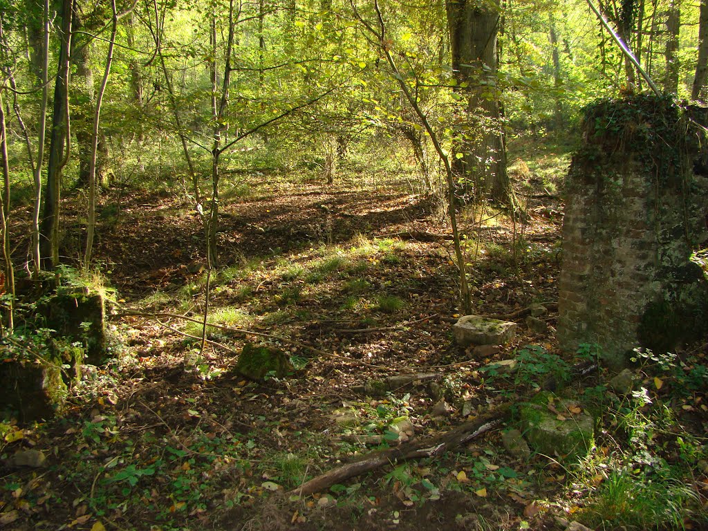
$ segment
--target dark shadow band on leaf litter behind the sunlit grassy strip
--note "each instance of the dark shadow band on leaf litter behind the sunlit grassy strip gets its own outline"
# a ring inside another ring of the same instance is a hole
[[[230,202],[219,218],[220,261],[232,265],[243,258],[343,243],[358,233],[392,233],[425,218],[432,208],[433,200],[420,196],[320,186]],[[179,198],[136,197],[122,205],[119,224],[109,221],[99,216],[96,254],[110,259],[111,276],[126,295],[178,287],[205,261],[198,214]]]

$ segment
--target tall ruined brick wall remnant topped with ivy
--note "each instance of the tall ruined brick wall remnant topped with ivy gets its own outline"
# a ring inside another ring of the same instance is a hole
[[[705,108],[634,96],[588,108],[566,178],[558,338],[671,350],[708,329],[708,283],[690,255],[708,245]],[[703,150],[703,151],[702,151]]]

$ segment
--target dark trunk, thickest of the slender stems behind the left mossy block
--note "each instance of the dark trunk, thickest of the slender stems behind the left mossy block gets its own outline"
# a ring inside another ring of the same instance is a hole
[[[54,88],[54,113],[50,152],[47,161],[47,191],[40,227],[42,268],[59,265],[59,205],[62,193],[62,169],[69,158],[71,132],[69,130],[69,50],[72,44],[72,0],[62,0],[62,21],[59,61]]]

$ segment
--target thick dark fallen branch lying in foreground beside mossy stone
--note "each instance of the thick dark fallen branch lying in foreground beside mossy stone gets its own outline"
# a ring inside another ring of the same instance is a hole
[[[464,445],[466,442],[479,437],[479,435],[484,435],[484,433],[501,426],[510,415],[510,405],[503,404],[498,406],[486,415],[476,417],[472,421],[467,421],[457,426],[457,428],[433,438],[367,454],[358,461],[344,464],[307,481],[307,483],[300,485],[297,489],[293,489],[288,494],[309,496],[310,494],[329,489],[332,485],[346,481],[354,476],[372,472],[387,464],[442,455],[448,450]]]

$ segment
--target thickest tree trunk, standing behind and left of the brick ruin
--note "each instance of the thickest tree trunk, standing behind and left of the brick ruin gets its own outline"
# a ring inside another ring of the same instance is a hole
[[[447,0],[447,22],[452,46],[452,68],[458,91],[467,96],[467,130],[457,149],[462,171],[477,190],[491,199],[508,202],[509,178],[504,161],[497,82],[499,3]]]

